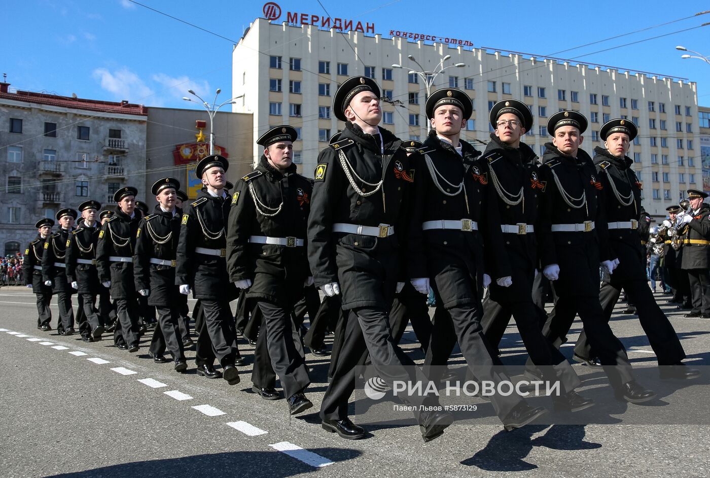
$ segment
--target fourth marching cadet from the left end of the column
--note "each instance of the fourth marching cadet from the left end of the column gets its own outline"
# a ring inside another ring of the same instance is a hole
[[[133,282],[133,248],[141,212],[136,211],[138,190],[126,186],[114,193],[116,211],[99,232],[96,266],[102,286],[111,290],[116,301],[118,323],[114,345],[121,350],[138,352],[138,311],[136,285]]]

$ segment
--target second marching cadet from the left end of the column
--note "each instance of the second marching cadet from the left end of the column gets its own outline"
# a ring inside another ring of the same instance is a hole
[[[59,324],[57,330],[60,335],[72,335],[74,333],[74,309],[72,308],[72,286],[67,282],[67,266],[65,255],[67,254],[67,239],[74,229],[74,222],[77,219],[77,212],[70,207],[65,207],[57,213],[57,222],[60,229],[52,234],[45,241],[45,253],[42,256],[42,278],[45,286],[53,286],[53,292],[57,295],[57,305],[59,306]]]

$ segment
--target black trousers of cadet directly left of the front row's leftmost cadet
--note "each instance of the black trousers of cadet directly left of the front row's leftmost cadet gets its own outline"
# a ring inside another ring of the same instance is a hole
[[[261,350],[257,350],[257,354],[261,359],[268,359],[271,362],[273,371],[281,381],[284,396],[288,398],[303,391],[310,384],[300,336],[290,310],[265,300],[261,300],[258,307],[263,318],[256,341],[257,349],[259,342],[262,342],[262,347]],[[263,342],[266,342],[266,351],[263,350]],[[257,370],[255,366],[254,372]],[[268,386],[268,384],[263,385],[258,372],[254,384],[260,388]]]

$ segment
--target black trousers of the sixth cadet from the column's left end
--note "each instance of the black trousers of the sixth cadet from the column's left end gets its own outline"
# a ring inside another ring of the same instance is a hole
[[[222,366],[234,365],[234,360],[239,355],[236,348],[236,330],[234,317],[231,315],[229,300],[202,299],[202,320],[197,330],[197,366],[202,364],[212,365],[214,359]],[[212,349],[212,357],[204,349]]]

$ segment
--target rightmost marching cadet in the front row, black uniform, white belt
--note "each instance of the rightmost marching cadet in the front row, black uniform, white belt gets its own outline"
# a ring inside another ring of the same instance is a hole
[[[609,232],[608,244],[613,258],[618,259],[613,273],[604,272],[599,301],[608,322],[621,289],[626,290],[629,304],[635,306],[638,320],[661,366],[662,378],[691,379],[699,376],[699,371],[681,363],[685,352],[678,335],[648,287],[646,248],[641,245],[639,232],[645,231],[648,237],[650,217],[641,205],[641,183],[631,169],[633,160],[626,156],[630,141],[637,133],[636,126],[628,119],[612,119],[599,130],[604,147],[594,148],[594,165],[597,180],[601,183],[599,195],[603,196],[600,205],[605,207]],[[710,227],[710,222],[708,224]],[[704,264],[710,265],[707,261]],[[710,303],[708,307],[710,313]],[[596,357],[584,331],[577,339],[574,356],[580,362]]]

